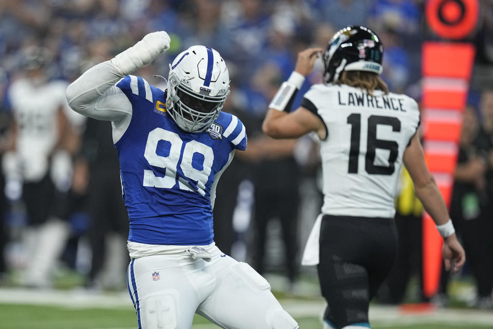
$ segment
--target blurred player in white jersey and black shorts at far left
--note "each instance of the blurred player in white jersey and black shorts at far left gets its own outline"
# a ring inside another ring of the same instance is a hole
[[[71,154],[78,148],[78,127],[84,117],[68,107],[68,83],[49,80],[47,48],[22,52],[22,74],[8,90],[13,114],[13,150],[3,158],[6,194],[22,200],[28,229],[28,276],[22,284],[51,285],[50,272],[69,234],[67,191],[71,186]],[[24,282],[25,281],[25,282]]]

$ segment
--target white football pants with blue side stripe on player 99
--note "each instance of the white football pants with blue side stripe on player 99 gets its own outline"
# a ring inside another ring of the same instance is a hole
[[[205,249],[210,262],[185,253],[130,262],[127,285],[139,329],[190,329],[195,313],[227,329],[298,328],[250,265],[214,245]]]

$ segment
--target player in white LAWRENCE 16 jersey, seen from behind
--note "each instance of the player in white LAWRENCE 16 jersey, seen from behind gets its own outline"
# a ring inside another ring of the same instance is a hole
[[[418,104],[389,93],[378,76],[383,46],[375,33],[362,26],[338,31],[323,54],[326,84],[312,86],[301,106],[287,113],[321,50],[298,54],[295,71],[270,104],[263,130],[274,138],[310,132],[320,138],[324,205],[302,263],[318,265],[328,302],[325,328],[368,328],[369,302],[396,255],[394,197],[403,162],[416,196],[444,237],[447,270],[460,270],[465,254],[426,168],[416,134]]]

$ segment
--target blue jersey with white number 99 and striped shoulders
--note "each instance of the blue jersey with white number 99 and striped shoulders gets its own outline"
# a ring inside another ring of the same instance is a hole
[[[119,87],[132,118],[115,144],[132,242],[207,245],[213,242],[211,193],[234,150],[247,148],[245,127],[220,112],[201,133],[181,130],[166,113],[163,90],[126,76]]]

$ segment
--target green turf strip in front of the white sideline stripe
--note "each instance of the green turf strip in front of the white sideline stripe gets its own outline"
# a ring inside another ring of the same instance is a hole
[[[373,328],[386,329],[485,329],[493,324],[467,324],[466,321],[439,324],[440,319],[419,321],[420,316],[408,321],[397,319],[375,321]],[[321,328],[318,317],[296,317],[301,329]],[[429,321],[429,322],[427,322]],[[135,329],[136,316],[131,308],[72,308],[24,304],[0,304],[0,328],[3,329]],[[218,328],[200,316],[194,320],[194,329]]]

